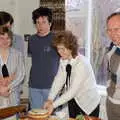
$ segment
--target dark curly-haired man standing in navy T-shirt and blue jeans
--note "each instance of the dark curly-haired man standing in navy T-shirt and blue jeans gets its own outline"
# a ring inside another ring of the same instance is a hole
[[[52,11],[46,7],[32,12],[37,32],[28,41],[28,51],[32,57],[29,80],[31,108],[40,108],[48,97],[52,80],[57,72],[59,56],[51,45],[54,34],[50,31]]]

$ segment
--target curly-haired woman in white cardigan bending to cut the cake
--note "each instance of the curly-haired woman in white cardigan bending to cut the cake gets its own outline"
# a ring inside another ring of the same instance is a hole
[[[100,95],[95,76],[87,58],[78,54],[76,37],[70,31],[60,32],[53,40],[53,46],[61,59],[44,108],[52,114],[55,108],[68,103],[72,118],[80,113],[98,117]]]

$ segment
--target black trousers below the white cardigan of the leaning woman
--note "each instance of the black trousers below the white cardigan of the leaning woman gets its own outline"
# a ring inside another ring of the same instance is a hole
[[[68,102],[69,116],[75,118],[77,115],[87,115],[76,103],[74,99]],[[94,111],[89,115],[94,117],[99,117],[99,105],[94,109]]]

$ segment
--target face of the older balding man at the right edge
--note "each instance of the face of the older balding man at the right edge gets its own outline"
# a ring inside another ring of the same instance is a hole
[[[120,15],[110,18],[107,23],[107,33],[113,43],[120,46]]]

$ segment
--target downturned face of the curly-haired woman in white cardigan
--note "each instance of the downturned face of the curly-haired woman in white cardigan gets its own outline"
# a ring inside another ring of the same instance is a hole
[[[59,55],[61,56],[61,59],[68,59],[70,60],[72,58],[72,52],[70,49],[67,49],[64,45],[60,44],[57,45],[57,51]]]

